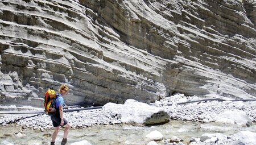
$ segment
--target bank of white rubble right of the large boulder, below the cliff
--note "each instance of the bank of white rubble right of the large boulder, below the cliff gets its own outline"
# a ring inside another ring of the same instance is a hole
[[[177,103],[180,102],[195,100],[200,100],[200,98],[197,96],[186,97],[184,94],[176,94],[156,101],[152,103],[152,105],[163,107],[170,114],[171,119],[213,122],[220,120],[218,118],[220,115],[231,110],[230,113],[233,113],[233,115],[236,114],[236,116],[241,113],[246,114],[246,117],[242,119],[247,120],[249,123],[256,122],[256,105],[254,101],[207,101],[177,105]],[[230,120],[230,122],[232,122],[232,120]]]

